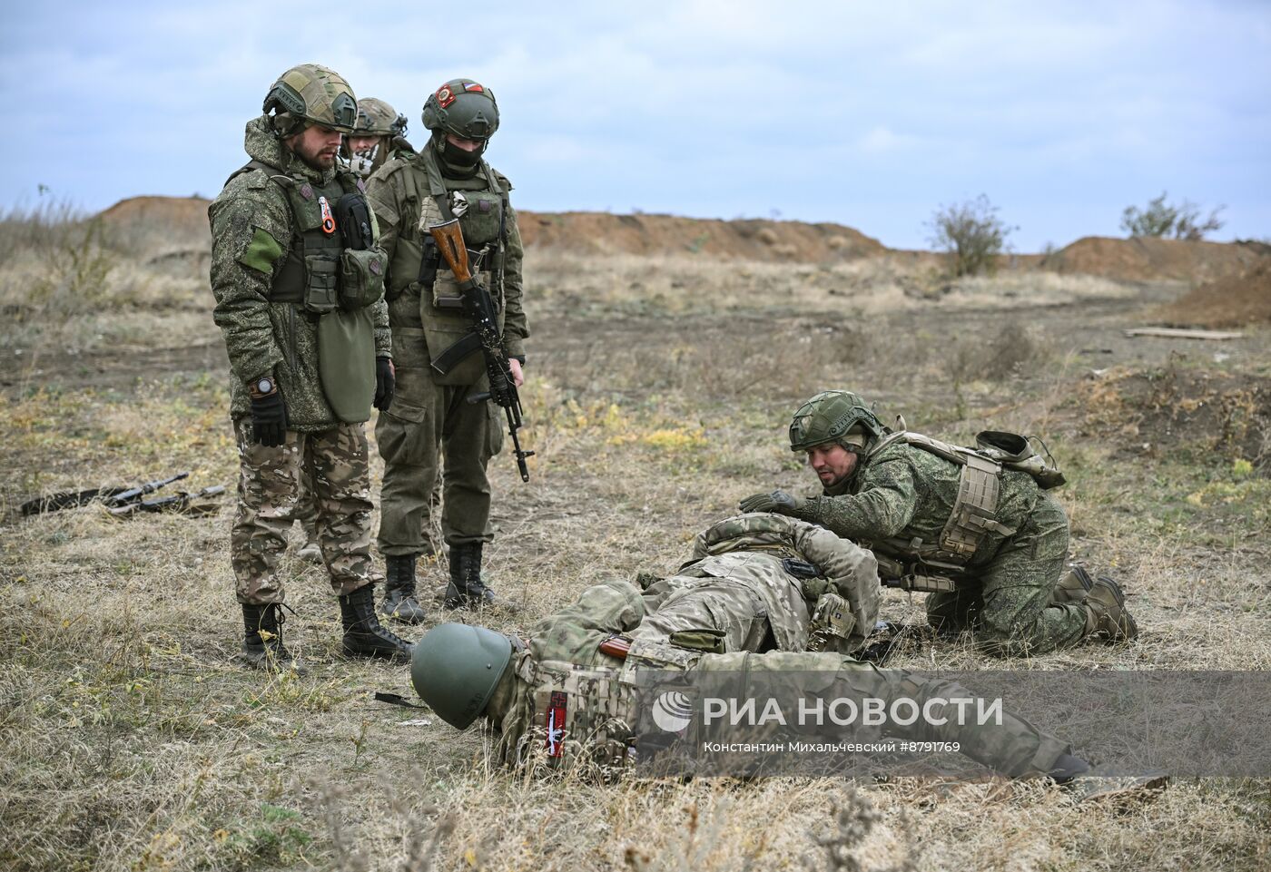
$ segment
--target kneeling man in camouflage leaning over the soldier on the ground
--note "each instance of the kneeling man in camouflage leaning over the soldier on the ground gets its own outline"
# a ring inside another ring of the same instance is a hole
[[[1061,483],[1055,470],[1047,478],[1038,465],[1003,464],[1000,453],[947,445],[904,427],[892,432],[844,390],[805,403],[789,435],[791,450],[807,453],[822,494],[756,493],[741,508],[811,521],[901,566],[956,575],[956,590],[927,600],[938,630],[970,629],[995,656],[1042,655],[1091,637],[1116,642],[1138,633],[1115,581],[1064,576],[1068,517],[1043,489]]]

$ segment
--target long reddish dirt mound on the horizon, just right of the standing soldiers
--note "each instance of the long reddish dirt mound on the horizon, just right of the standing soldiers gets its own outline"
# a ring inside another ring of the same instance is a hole
[[[877,239],[838,224],[676,215],[521,212],[526,245],[628,254],[707,254],[750,261],[831,261],[882,254]]]

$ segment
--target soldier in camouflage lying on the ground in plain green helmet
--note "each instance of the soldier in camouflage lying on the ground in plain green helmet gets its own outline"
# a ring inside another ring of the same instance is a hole
[[[802,562],[821,575],[801,577]],[[446,723],[464,730],[487,718],[510,765],[541,754],[550,727],[563,730],[563,747],[586,745],[608,763],[629,759],[629,725],[639,714],[634,688],[644,670],[780,672],[794,690],[810,674],[833,674],[835,686],[860,698],[905,697],[918,705],[972,698],[952,681],[876,669],[846,653],[862,641],[855,627],[873,627],[877,590],[872,554],[852,542],[778,515],[741,515],[699,534],[693,558],[675,576],[643,591],[622,580],[595,585],[535,624],[527,642],[483,627],[436,627],[416,644],[411,678]],[[839,652],[805,651],[813,632],[810,604],[827,594],[848,600],[850,629],[838,637]],[[962,754],[998,773],[1077,780],[1087,794],[1164,780],[1112,784],[1068,744],[1010,713],[1000,723],[918,721],[888,732],[958,742]]]

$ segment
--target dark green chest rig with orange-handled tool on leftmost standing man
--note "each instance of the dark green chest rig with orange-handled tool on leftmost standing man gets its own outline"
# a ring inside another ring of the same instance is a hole
[[[361,179],[352,173],[336,173],[330,182],[316,186],[259,160],[234,175],[253,169],[264,170],[282,188],[292,219],[291,244],[273,275],[269,301],[292,303],[316,315],[333,311],[342,290],[339,259],[347,247],[343,229],[334,220],[336,205],[344,194],[364,193]]]

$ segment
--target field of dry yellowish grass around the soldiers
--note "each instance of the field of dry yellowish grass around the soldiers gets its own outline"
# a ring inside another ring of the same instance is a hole
[[[323,573],[290,557],[287,630],[309,671],[241,670],[233,500],[205,517],[14,515],[36,493],[177,470],[234,483],[206,261],[145,228],[31,224],[0,221],[0,867],[1267,867],[1263,780],[1185,779],[1116,811],[1036,782],[503,772],[480,732],[372,700],[411,695],[405,670],[341,657]],[[1143,636],[1012,667],[1271,669],[1271,336],[1121,336],[1181,291],[531,252],[538,456],[529,484],[494,460],[489,549],[496,586],[525,608],[491,620],[520,630],[597,578],[676,564],[756,489],[811,491],[787,416],[852,386],[938,436],[1038,432],[1065,467],[1074,553],[1125,580]],[[425,580],[440,589],[444,571]],[[885,615],[920,622],[920,600],[888,591]],[[1002,666],[966,643],[897,662]]]

